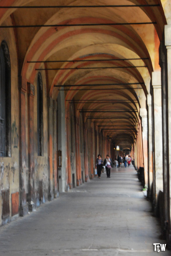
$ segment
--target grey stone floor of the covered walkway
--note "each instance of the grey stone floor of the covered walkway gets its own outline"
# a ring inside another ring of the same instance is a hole
[[[160,240],[134,168],[115,168],[0,228],[0,255],[151,256]]]

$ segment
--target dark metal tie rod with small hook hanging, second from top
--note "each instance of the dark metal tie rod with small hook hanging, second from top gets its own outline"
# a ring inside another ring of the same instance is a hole
[[[132,22],[132,23],[86,23],[86,24],[49,24],[49,25],[10,25],[0,26],[0,28],[41,28],[41,27],[80,27],[80,26],[117,26],[117,25],[148,25],[157,24],[157,22]]]

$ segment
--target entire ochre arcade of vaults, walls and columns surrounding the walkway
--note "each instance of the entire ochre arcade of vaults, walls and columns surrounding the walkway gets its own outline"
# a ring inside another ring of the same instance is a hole
[[[170,241],[170,2],[120,2],[0,1],[0,224],[127,153]]]

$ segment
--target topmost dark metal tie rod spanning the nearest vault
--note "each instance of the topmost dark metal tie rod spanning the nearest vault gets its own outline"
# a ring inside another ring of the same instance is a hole
[[[29,8],[104,8],[104,7],[158,7],[160,4],[137,4],[137,5],[49,5],[49,6],[0,6],[1,9],[29,9]]]

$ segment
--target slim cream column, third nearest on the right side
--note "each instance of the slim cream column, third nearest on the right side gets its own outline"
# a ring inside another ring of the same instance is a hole
[[[152,196],[152,183],[153,183],[153,145],[152,145],[152,108],[151,108],[151,95],[147,95],[148,105],[148,190],[147,196]]]

